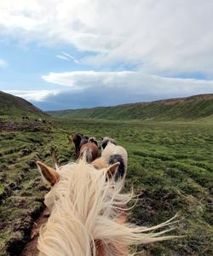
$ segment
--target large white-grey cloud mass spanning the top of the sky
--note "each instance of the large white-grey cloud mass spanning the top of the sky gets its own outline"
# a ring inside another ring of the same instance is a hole
[[[211,0],[2,0],[0,35],[94,51],[81,62],[95,66],[212,74],[212,13]]]

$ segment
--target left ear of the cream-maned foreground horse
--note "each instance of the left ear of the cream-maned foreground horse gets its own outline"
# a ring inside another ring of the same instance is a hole
[[[37,161],[37,168],[51,186],[54,186],[55,183],[57,183],[57,181],[59,180],[60,175],[58,172],[55,171],[54,168],[46,166],[40,161]]]

